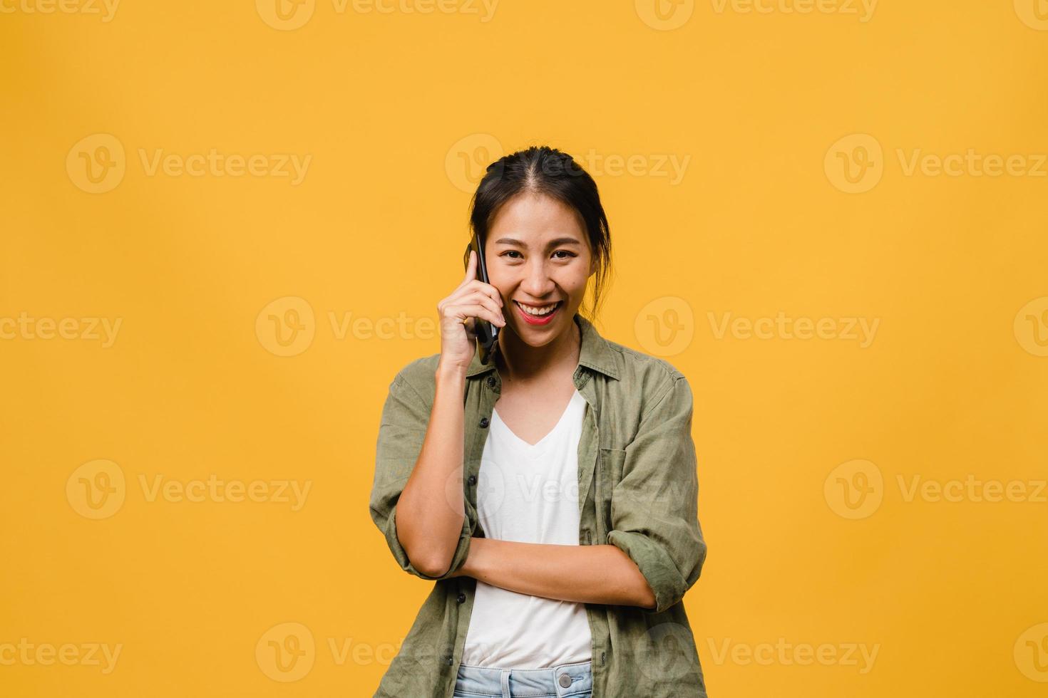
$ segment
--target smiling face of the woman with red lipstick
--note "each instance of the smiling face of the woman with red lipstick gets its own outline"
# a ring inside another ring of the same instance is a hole
[[[518,195],[499,209],[487,232],[484,260],[488,280],[502,294],[507,327],[531,346],[571,329],[595,270],[574,209],[532,193]]]

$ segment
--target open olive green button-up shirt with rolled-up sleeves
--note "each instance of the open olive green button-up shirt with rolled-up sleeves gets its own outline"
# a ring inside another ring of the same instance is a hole
[[[702,569],[692,440],[692,389],[663,359],[604,339],[576,314],[582,345],[572,376],[586,398],[578,443],[580,545],[611,544],[637,565],[656,607],[586,604],[592,634],[593,698],[704,698],[705,682],[681,599]],[[477,520],[477,474],[502,382],[475,354],[465,378],[465,516],[451,568],[418,571],[396,534],[396,503],[422,447],[439,354],[412,361],[390,383],[383,407],[370,497],[371,518],[400,568],[435,580],[415,623],[374,694],[451,698],[470,628],[471,577],[449,577],[465,562]]]

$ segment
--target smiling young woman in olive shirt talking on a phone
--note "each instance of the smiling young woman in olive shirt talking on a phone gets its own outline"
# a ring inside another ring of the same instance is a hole
[[[610,264],[593,179],[529,148],[487,167],[440,353],[390,384],[371,517],[435,580],[375,696],[706,696],[681,600],[706,555],[692,391],[578,313]],[[475,323],[500,328],[481,362]]]

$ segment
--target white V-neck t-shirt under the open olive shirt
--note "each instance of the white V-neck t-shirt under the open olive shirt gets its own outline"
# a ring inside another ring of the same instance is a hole
[[[586,399],[575,390],[537,444],[492,413],[477,475],[477,517],[492,539],[578,545],[578,440]],[[462,663],[547,669],[591,658],[585,604],[477,582]]]

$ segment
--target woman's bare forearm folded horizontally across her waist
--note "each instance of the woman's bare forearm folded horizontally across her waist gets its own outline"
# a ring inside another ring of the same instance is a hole
[[[614,545],[550,545],[474,538],[455,577],[561,601],[655,607],[636,563]]]

